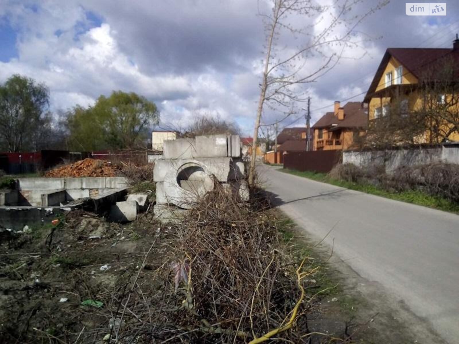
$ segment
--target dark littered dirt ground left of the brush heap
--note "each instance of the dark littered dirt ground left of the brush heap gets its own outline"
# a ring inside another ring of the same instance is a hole
[[[110,331],[103,310],[138,270],[157,227],[148,215],[119,225],[72,212],[56,227],[0,235],[0,343],[93,343]],[[161,250],[158,243],[140,280]],[[84,306],[85,300],[103,305]],[[84,341],[77,339],[83,328]]]

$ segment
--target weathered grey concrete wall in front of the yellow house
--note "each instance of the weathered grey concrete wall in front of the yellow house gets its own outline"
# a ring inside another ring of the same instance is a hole
[[[387,173],[394,172],[399,166],[424,165],[434,162],[459,164],[459,144],[397,150],[345,151],[342,162],[360,167],[382,165],[386,167]]]

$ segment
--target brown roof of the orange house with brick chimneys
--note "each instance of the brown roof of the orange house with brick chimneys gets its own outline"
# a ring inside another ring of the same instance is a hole
[[[350,101],[343,106],[344,119],[339,120],[334,112],[327,112],[312,128],[364,128],[368,124],[368,113],[359,101]]]

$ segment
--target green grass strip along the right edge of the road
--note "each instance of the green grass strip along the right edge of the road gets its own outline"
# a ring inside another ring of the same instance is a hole
[[[434,208],[442,211],[449,211],[453,213],[459,213],[459,204],[453,203],[443,197],[433,196],[426,194],[419,190],[406,190],[401,192],[388,191],[379,188],[372,184],[352,183],[344,180],[330,178],[325,173],[311,172],[311,171],[296,171],[290,169],[282,169],[282,172],[290,173],[295,176],[304,177],[318,182],[328,183],[339,186],[341,188],[362,191],[367,194],[374,194],[376,196],[390,198],[392,200],[399,200],[402,202],[413,203],[416,205],[422,205],[429,208]]]

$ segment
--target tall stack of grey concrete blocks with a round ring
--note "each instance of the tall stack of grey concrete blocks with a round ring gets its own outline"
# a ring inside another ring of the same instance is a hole
[[[165,140],[163,158],[155,162],[155,216],[172,221],[192,209],[207,192],[222,184],[240,200],[249,199],[238,135]]]

